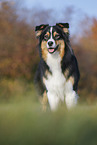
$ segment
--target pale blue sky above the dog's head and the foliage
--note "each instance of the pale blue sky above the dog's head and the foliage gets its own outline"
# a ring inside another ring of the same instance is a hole
[[[15,0],[19,1],[22,7],[35,10],[53,10],[54,11],[54,23],[49,22],[50,25],[54,25],[57,22],[68,22],[70,24],[70,33],[78,33],[80,35],[79,27],[80,21],[86,19],[86,16],[90,18],[97,18],[97,0]],[[66,8],[70,7],[74,9],[72,20],[68,21],[66,18]],[[33,9],[34,8],[34,9]],[[64,16],[64,17],[63,17]],[[42,22],[44,23],[44,22]],[[37,23],[37,25],[40,25]],[[87,24],[86,24],[86,27]],[[78,31],[77,31],[78,30]]]

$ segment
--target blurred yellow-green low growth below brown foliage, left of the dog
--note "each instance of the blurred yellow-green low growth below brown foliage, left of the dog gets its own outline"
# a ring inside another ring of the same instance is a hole
[[[32,82],[25,79],[0,79],[0,102],[35,99],[36,92]]]

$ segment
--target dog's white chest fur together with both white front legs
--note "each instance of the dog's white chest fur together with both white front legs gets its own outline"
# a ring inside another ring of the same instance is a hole
[[[68,108],[77,103],[77,94],[73,90],[72,83],[66,81],[61,70],[61,57],[58,52],[47,56],[47,64],[52,74],[48,74],[45,85],[48,90],[47,97],[51,110],[56,110],[60,101],[65,102]]]

